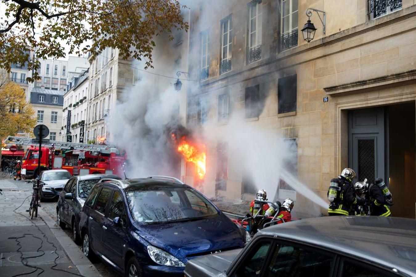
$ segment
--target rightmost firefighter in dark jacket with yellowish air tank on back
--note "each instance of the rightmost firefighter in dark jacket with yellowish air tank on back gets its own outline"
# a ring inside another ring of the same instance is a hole
[[[371,216],[390,216],[391,211],[389,206],[392,201],[386,199],[379,184],[383,184],[383,179],[377,178],[374,184],[370,184],[368,188],[368,199],[370,202]]]

